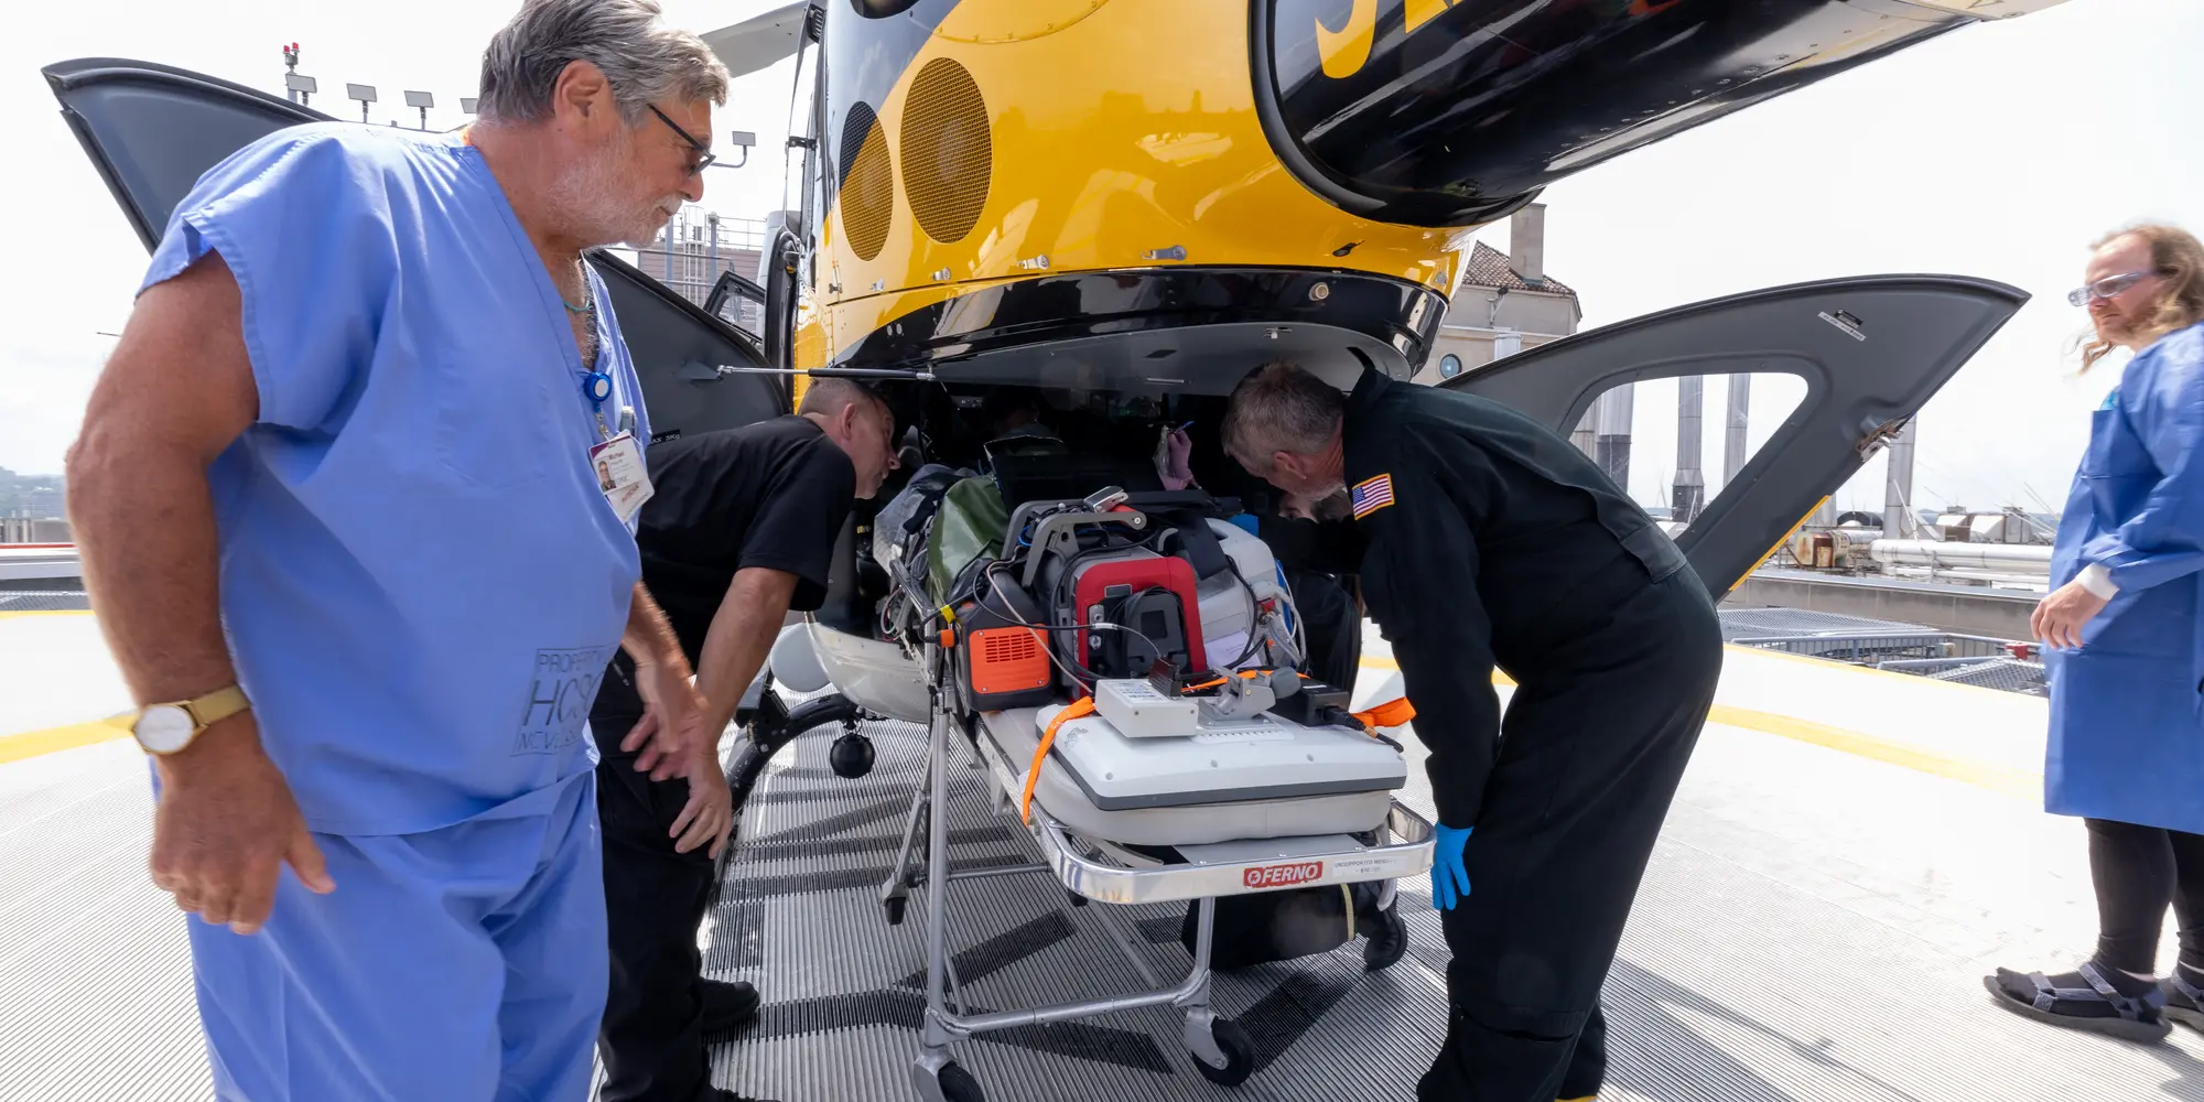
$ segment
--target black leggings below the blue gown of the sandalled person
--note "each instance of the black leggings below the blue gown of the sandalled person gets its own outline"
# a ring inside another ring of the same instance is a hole
[[[2085,822],[2089,882],[2096,884],[2096,959],[2125,972],[2158,974],[2158,937],[2171,904],[2182,963],[2204,972],[2204,835]]]

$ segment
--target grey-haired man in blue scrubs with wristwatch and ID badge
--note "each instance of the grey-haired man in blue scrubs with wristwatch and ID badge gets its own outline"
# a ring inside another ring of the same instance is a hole
[[[282,130],[154,251],[71,514],[223,1100],[588,1095],[606,661],[641,670],[639,769],[701,723],[582,251],[701,198],[725,88],[652,0],[531,0],[472,132]]]

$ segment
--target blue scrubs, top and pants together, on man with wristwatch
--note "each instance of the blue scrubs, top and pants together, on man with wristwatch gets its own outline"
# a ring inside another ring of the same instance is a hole
[[[258,421],[209,467],[220,608],[335,893],[190,919],[216,1095],[582,1102],[604,1012],[586,716],[639,575],[566,311],[478,150],[320,123],[212,168]],[[606,423],[641,392],[591,276]]]

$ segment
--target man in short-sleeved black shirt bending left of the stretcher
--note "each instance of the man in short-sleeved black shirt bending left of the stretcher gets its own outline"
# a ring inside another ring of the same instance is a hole
[[[657,443],[657,489],[635,542],[650,593],[696,670],[707,732],[725,732],[789,611],[827,595],[833,544],[855,498],[895,469],[895,417],[846,379],[820,379],[796,414]],[[626,650],[591,710],[613,976],[597,1049],[604,1102],[741,1102],[712,1087],[703,1038],[758,1007],[749,983],[701,979],[696,928],[727,842],[727,785],[650,780],[619,743],[644,716]],[[719,738],[701,754],[719,774]]]

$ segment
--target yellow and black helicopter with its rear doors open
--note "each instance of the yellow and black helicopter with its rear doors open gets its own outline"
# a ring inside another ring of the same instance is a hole
[[[804,379],[851,375],[912,425],[906,458],[974,461],[972,421],[1001,386],[1087,417],[1100,452],[1144,456],[1166,423],[1199,436],[1214,399],[1265,359],[1342,386],[1360,370],[1411,377],[1470,231],[1560,176],[2056,2],[802,0],[703,35],[734,75],[789,55],[809,75],[809,119],[789,139],[802,201],[778,216],[758,280],[730,276],[696,309],[613,256],[593,262],[661,434],[774,417]],[[148,245],[231,150],[328,121],[152,62],[44,75]],[[1832,298],[1845,317],[1884,322],[1856,309],[1860,293],[1763,295]],[[1984,291],[1931,280],[1913,302],[1955,293]],[[2017,302],[1988,298],[2001,315]],[[763,324],[741,322],[743,300]],[[1754,302],[1682,311],[1688,333],[1668,339],[1695,364],[1646,366],[1646,328],[1682,324],[1657,315],[1446,386],[1574,425],[1598,390],[1713,370],[1737,342],[1735,311]],[[1849,337],[1805,328],[1757,339]],[[1677,536],[1710,588],[1750,569],[1973,350],[1891,359],[1887,342],[1849,344],[1805,357],[1829,386]],[[1869,364],[1832,370],[1843,355]],[[862,542],[844,608],[822,617],[860,635]]]

